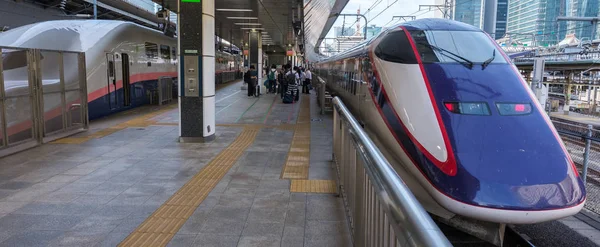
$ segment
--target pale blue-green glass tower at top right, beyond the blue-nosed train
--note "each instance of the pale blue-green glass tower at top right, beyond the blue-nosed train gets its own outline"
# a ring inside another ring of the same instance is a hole
[[[524,44],[554,45],[567,33],[566,22],[556,21],[566,12],[566,0],[509,0],[506,32]]]

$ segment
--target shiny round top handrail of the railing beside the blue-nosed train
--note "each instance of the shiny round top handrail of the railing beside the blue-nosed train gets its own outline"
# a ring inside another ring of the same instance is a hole
[[[405,236],[407,239],[403,242],[410,246],[452,246],[344,103],[338,97],[333,103],[336,112],[347,122],[350,139],[364,161],[371,184],[376,187],[379,205],[387,214],[395,235]]]

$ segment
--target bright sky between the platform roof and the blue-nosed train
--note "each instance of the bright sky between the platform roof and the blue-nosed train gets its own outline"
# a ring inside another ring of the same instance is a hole
[[[414,15],[417,18],[432,18],[434,13],[439,10],[429,11],[424,9],[419,11],[419,5],[435,4],[435,0],[350,0],[346,8],[342,11],[343,14],[356,14],[360,8],[360,13],[365,14],[369,21],[369,26],[390,26],[398,21],[392,21],[393,16]],[[443,1],[442,1],[443,2]],[[369,10],[369,8],[371,8]],[[345,26],[353,25],[356,29],[356,17],[346,17]],[[334,27],[341,27],[344,24],[344,17],[339,17]],[[364,27],[365,21],[361,18],[361,29]],[[329,31],[327,37],[333,37],[333,28]]]

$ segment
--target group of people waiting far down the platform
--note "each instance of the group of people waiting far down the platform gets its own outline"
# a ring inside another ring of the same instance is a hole
[[[256,90],[257,71],[254,66],[250,66],[250,70],[244,75],[244,81],[248,83],[248,96],[253,96]],[[266,72],[265,87],[267,94],[280,94],[283,103],[293,103],[298,101],[300,94],[298,86],[302,86],[302,93],[310,94],[312,88],[311,80],[312,73],[310,69],[285,64],[280,68],[272,65],[271,69]]]

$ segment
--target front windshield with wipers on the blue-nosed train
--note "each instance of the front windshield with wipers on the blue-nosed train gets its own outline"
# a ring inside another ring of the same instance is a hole
[[[507,63],[483,32],[419,30],[410,35],[424,63]]]

